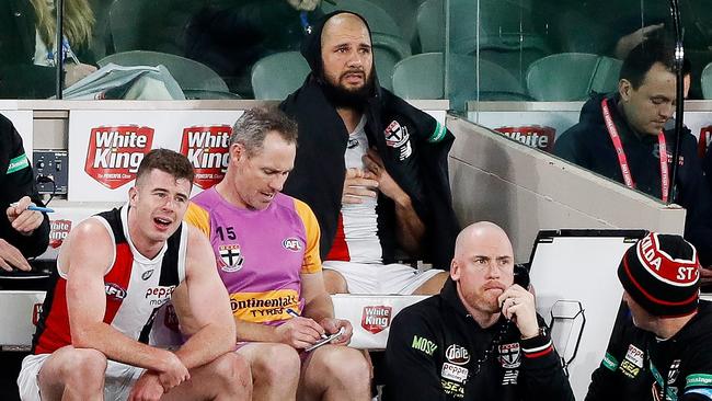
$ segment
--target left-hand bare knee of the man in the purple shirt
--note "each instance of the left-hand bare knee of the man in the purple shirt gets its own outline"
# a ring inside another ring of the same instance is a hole
[[[250,343],[240,350],[252,370],[255,400],[294,400],[297,397],[301,360],[287,344]]]

